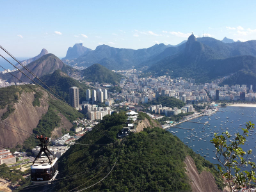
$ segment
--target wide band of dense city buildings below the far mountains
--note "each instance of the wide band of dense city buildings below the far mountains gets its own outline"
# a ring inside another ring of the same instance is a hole
[[[162,96],[175,97],[183,102],[192,104],[207,102],[210,99],[256,101],[252,85],[250,88],[246,88],[244,84],[241,86],[239,84],[218,86],[225,78],[212,83],[196,84],[195,79],[185,80],[182,77],[140,78],[141,72],[135,69],[118,72],[126,76],[125,79],[120,81],[122,93],[115,92],[111,97],[115,100],[120,100],[120,102],[140,104]]]

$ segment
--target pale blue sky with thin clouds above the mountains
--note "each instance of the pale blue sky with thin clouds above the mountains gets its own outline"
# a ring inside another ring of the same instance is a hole
[[[0,44],[17,57],[64,57],[83,43],[141,49],[193,33],[256,39],[256,1],[2,1]],[[0,51],[1,53],[1,51]]]

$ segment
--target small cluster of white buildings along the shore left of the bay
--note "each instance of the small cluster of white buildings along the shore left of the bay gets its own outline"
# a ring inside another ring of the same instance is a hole
[[[157,113],[157,114],[163,114],[165,116],[173,116],[178,115],[180,113],[188,113],[193,112],[193,105],[186,105],[183,108],[168,108],[168,107],[162,107],[162,105],[156,105],[156,106],[150,106],[149,110],[151,112]]]

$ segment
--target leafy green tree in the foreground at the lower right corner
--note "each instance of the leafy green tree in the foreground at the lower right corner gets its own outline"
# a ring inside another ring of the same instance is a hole
[[[241,186],[250,186],[251,182],[256,181],[256,165],[248,160],[248,155],[252,154],[252,149],[246,152],[241,148],[248,137],[248,132],[252,129],[254,129],[254,124],[248,122],[246,128],[243,129],[243,134],[237,132],[234,140],[228,131],[223,132],[223,135],[220,136],[214,133],[214,138],[211,140],[216,148],[216,159],[220,162],[217,164],[218,169],[227,180],[228,188],[231,191],[236,188],[239,189]],[[250,171],[242,171],[241,167],[243,166],[248,166]]]

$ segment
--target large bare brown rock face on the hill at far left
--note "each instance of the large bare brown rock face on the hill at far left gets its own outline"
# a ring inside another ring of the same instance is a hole
[[[47,97],[47,93],[44,93],[44,97]],[[33,106],[33,100],[35,99],[33,92],[22,92],[19,96],[19,102],[15,103],[13,108],[15,111],[11,113],[4,122],[15,125],[20,129],[33,132],[33,129],[36,128],[39,120],[44,115],[49,105],[44,99],[40,99],[40,107]],[[2,116],[6,109],[0,109],[0,115]],[[28,132],[17,131],[15,127],[10,127],[1,124],[0,129],[0,146],[3,147],[15,147],[18,143],[22,144],[27,138],[29,138]],[[8,130],[10,131],[8,131]]]

